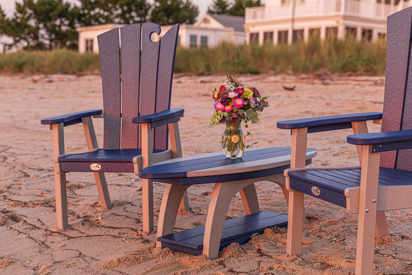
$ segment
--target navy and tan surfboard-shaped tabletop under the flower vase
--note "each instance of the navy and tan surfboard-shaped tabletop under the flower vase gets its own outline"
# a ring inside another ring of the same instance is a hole
[[[223,152],[185,156],[148,166],[139,177],[176,185],[260,178],[290,168],[290,153],[290,147],[270,147],[246,149],[240,159],[227,159]],[[316,154],[316,149],[307,149],[306,165]]]

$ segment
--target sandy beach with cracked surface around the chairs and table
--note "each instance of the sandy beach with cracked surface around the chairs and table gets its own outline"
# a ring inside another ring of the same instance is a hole
[[[224,126],[209,126],[211,90],[225,75],[175,74],[171,107],[185,108],[179,122],[183,156],[221,151]],[[384,76],[234,75],[268,97],[270,106],[252,125],[254,147],[290,146],[287,119],[382,111]],[[282,85],[296,85],[287,91]],[[102,209],[92,173],[68,173],[69,228],[56,228],[52,132],[40,119],[102,109],[99,75],[0,75],[0,274],[327,274],[354,273],[357,215],[306,197],[300,256],[286,256],[286,229],[266,229],[247,244],[231,244],[211,261],[155,248],[164,184],[154,184],[155,231],[143,232],[141,180],[107,173],[112,209]],[[103,146],[103,119],[94,119]],[[368,122],[370,132],[380,125]],[[66,153],[87,151],[81,125],[66,127]],[[318,150],[311,166],[358,165],[351,129],[308,136]],[[287,213],[278,185],[256,183],[261,211]],[[213,184],[189,188],[191,210],[180,214],[176,231],[204,225]],[[240,195],[227,218],[245,215]],[[375,240],[375,274],[412,274],[412,211],[386,213],[389,237]]]

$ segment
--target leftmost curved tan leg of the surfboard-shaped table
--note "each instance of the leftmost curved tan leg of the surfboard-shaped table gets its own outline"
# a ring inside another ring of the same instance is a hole
[[[189,187],[190,185],[166,184],[157,222],[157,237],[173,233],[183,194]],[[162,242],[156,241],[156,247],[162,247]]]

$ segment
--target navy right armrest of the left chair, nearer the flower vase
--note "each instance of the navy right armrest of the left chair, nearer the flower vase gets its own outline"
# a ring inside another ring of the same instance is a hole
[[[185,109],[172,108],[155,114],[145,116],[136,116],[131,119],[133,123],[149,123],[150,129],[159,127],[168,123],[180,121],[180,116],[183,115]]]

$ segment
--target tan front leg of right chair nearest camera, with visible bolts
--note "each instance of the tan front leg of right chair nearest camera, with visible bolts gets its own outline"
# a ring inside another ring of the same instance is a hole
[[[380,153],[369,153],[369,147],[370,145],[362,146],[356,275],[367,275],[373,272]]]

